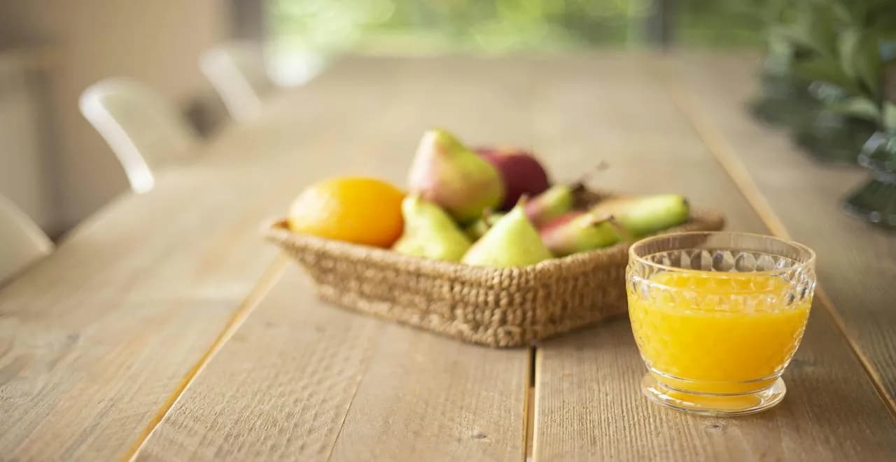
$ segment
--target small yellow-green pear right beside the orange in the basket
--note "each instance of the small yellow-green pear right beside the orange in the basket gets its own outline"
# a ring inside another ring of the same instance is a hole
[[[434,260],[460,261],[470,239],[439,206],[416,194],[401,201],[404,231],[392,250]]]

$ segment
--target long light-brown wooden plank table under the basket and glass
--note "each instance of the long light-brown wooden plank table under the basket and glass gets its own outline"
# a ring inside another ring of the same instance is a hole
[[[754,122],[750,56],[349,58],[78,227],[0,290],[2,460],[884,460],[896,457],[896,237],[865,175]],[[511,142],[557,179],[681,192],[819,253],[771,411],[651,406],[628,321],[489,349],[315,300],[258,234],[310,182],[402,184],[420,133]]]

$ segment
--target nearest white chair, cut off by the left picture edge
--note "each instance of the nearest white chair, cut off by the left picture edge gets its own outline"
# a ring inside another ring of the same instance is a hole
[[[13,202],[0,195],[0,286],[50,252],[53,243],[47,235]]]

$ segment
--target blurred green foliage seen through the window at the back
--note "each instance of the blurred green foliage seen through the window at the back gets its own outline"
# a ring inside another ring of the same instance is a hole
[[[645,43],[654,0],[269,0],[273,33],[309,47],[389,52],[582,49]],[[676,0],[685,45],[759,45],[741,0]]]

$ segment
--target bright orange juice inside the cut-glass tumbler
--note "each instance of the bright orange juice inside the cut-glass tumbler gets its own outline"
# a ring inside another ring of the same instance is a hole
[[[778,275],[661,271],[629,289],[629,316],[654,378],[671,389],[740,394],[780,376],[802,338],[811,296]],[[795,301],[796,300],[796,301]]]

